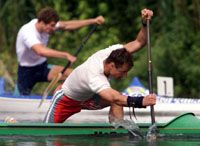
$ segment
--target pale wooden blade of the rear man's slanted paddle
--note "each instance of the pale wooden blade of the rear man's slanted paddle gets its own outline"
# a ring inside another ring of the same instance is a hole
[[[44,100],[47,98],[47,96],[49,95],[49,93],[53,90],[54,86],[57,84],[57,82],[61,79],[62,77],[62,73],[59,73],[55,78],[53,78],[53,80],[50,82],[50,84],[47,86],[47,88],[45,89],[42,99],[40,100],[40,103],[38,105],[38,108],[41,107],[42,103],[44,102]]]

